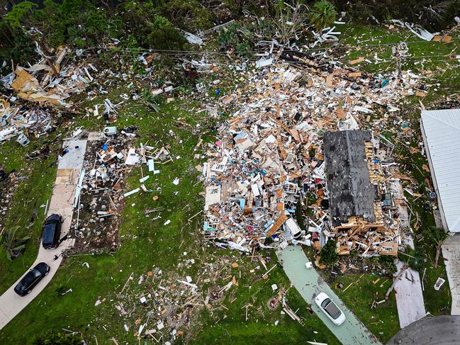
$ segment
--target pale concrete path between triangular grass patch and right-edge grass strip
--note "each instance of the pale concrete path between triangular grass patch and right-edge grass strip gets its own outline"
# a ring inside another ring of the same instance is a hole
[[[396,267],[399,273],[401,268],[403,268],[403,263],[398,261]],[[427,315],[427,312],[425,312],[425,303],[423,302],[420,274],[417,271],[408,268],[403,272],[403,276],[395,284],[395,295],[401,328]]]

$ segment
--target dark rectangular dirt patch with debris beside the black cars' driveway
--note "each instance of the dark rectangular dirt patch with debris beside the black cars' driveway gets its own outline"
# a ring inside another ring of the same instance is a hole
[[[113,252],[120,246],[129,140],[115,135],[89,141],[84,157],[85,176],[79,206],[72,220],[75,253]]]

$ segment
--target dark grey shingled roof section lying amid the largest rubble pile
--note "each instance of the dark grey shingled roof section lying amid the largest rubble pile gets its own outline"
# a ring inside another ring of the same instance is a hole
[[[349,217],[375,221],[375,189],[369,180],[364,142],[371,132],[342,130],[324,135],[326,183],[329,208],[334,227]]]

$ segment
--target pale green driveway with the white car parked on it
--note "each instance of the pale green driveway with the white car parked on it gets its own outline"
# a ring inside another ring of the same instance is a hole
[[[302,295],[305,302],[315,311],[318,317],[331,330],[333,334],[344,345],[375,345],[380,344],[374,335],[369,332],[364,324],[342,303],[335,295],[329,285],[322,280],[315,271],[315,268],[305,268],[305,263],[309,260],[303,253],[301,247],[289,246],[283,251],[278,251],[279,261],[283,260],[284,272],[288,276],[291,283]],[[333,324],[329,318],[320,310],[315,303],[315,296],[318,293],[324,292],[337,304],[344,312],[347,319],[340,326]]]

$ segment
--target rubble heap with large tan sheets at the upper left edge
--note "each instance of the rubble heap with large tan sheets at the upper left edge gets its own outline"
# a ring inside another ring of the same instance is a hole
[[[82,93],[94,80],[90,70],[98,70],[92,64],[65,66],[65,48],[57,50],[56,55],[55,61],[43,58],[30,67],[17,66],[0,79],[6,94],[14,91],[16,95],[0,98],[0,142],[18,137],[17,141],[26,146],[31,134],[45,135],[52,129],[58,112],[48,106],[69,106],[65,99]],[[39,106],[30,106],[27,101]]]

